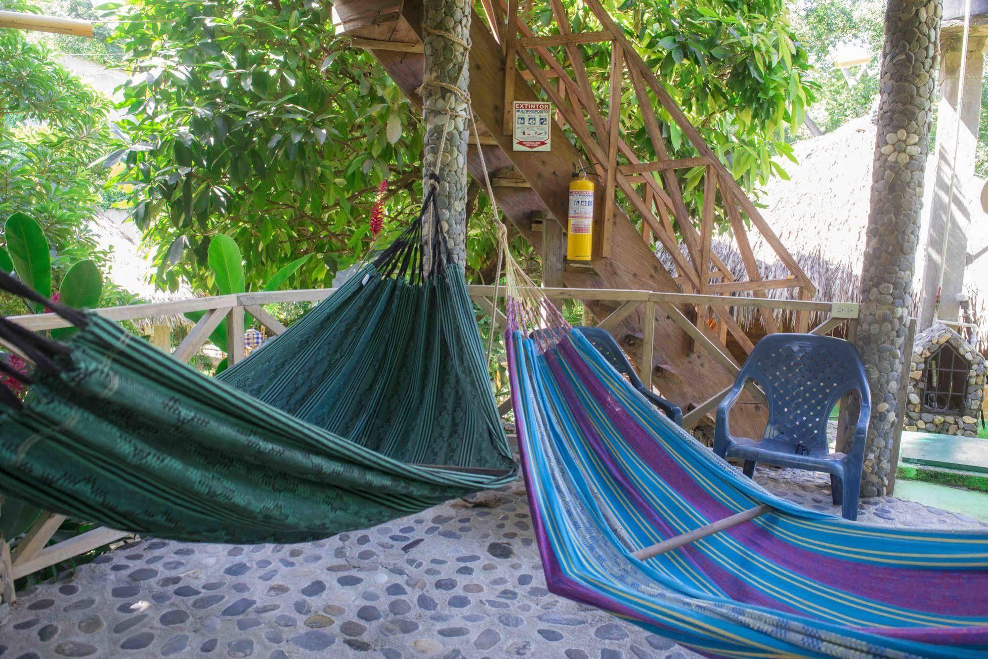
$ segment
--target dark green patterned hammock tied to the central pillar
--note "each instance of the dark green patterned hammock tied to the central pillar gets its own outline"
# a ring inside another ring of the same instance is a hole
[[[0,318],[38,365],[23,403],[0,386],[0,493],[146,535],[296,542],[510,482],[462,271],[445,244],[426,271],[422,222],[215,378],[0,278],[80,328],[60,344]]]

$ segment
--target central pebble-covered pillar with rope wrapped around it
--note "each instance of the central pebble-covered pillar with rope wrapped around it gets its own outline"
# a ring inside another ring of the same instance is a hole
[[[422,84],[422,119],[426,125],[423,185],[437,169],[436,201],[440,221],[453,250],[453,260],[466,262],[466,140],[469,123],[466,110],[468,56],[472,5],[465,0],[425,0],[422,39],[425,42],[425,78]],[[454,91],[460,90],[459,92]],[[446,140],[444,129],[449,123]],[[441,145],[441,142],[442,145]],[[443,152],[440,153],[442,147]],[[432,227],[426,227],[430,244]],[[428,258],[428,253],[427,253]]]

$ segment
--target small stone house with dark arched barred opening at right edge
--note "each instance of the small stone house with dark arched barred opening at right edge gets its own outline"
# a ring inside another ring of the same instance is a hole
[[[934,323],[916,336],[904,430],[977,435],[985,360],[954,330]]]

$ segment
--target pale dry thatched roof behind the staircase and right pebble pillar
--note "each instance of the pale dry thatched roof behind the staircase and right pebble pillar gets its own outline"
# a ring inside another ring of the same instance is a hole
[[[823,301],[861,301],[860,282],[864,260],[864,229],[867,225],[871,194],[871,164],[875,124],[869,116],[844,124],[819,137],[804,139],[793,145],[798,164],[786,162],[789,180],[773,179],[761,201],[762,214],[782,240],[800,268],[817,288],[816,299]],[[969,231],[969,251],[988,244],[986,222],[976,217]],[[763,279],[782,279],[788,270],[772,247],[755,231],[749,233],[752,250]],[[730,236],[714,239],[713,250],[738,280],[747,280],[741,255]],[[660,258],[671,267],[668,254],[659,250]],[[919,265],[919,264],[917,264]],[[978,270],[983,272],[977,272]],[[920,273],[917,272],[917,276]],[[971,300],[975,318],[988,318],[988,290],[981,292],[977,281],[988,286],[988,256],[968,267],[964,289]],[[920,290],[919,281],[914,290]],[[778,288],[766,291],[777,299],[794,299],[796,290]],[[915,300],[914,300],[915,304]],[[914,309],[915,311],[915,309]],[[787,318],[777,314],[781,320]],[[755,317],[753,309],[738,309],[745,324]],[[988,323],[983,323],[988,325]],[[979,330],[984,341],[988,327]]]

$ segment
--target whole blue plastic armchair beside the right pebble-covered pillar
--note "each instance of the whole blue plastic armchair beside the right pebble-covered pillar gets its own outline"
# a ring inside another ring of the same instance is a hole
[[[769,401],[769,423],[761,442],[733,437],[728,425],[731,406],[748,380],[758,382]],[[830,453],[827,419],[834,405],[852,391],[858,392],[861,412],[851,452]],[[853,345],[813,334],[771,334],[758,342],[717,406],[713,451],[743,459],[748,477],[758,462],[829,473],[834,503],[842,506],[844,519],[856,520],[870,412],[864,364]]]

